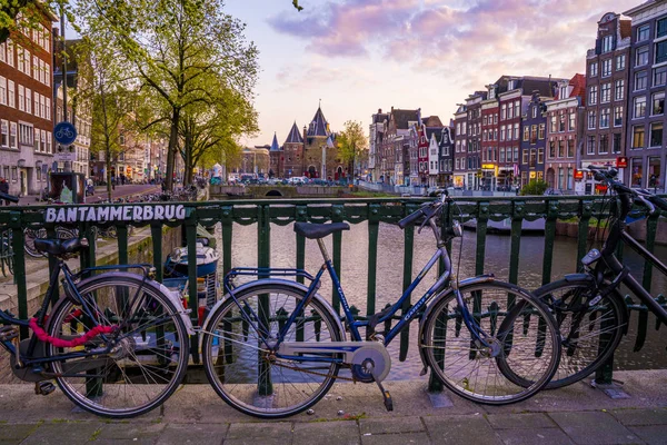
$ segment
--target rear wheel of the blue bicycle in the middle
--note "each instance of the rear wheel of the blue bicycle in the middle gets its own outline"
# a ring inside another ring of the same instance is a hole
[[[225,402],[261,418],[290,416],[315,405],[331,387],[339,365],[326,362],[290,362],[270,355],[263,339],[275,339],[306,293],[289,285],[253,286],[227,299],[205,327],[203,367],[209,382]],[[238,304],[237,304],[238,301]],[[243,308],[243,309],[240,309]],[[250,309],[262,320],[247,323],[241,310]],[[305,307],[285,342],[340,342],[330,310],[317,299]],[[317,358],[335,357],[318,354]]]

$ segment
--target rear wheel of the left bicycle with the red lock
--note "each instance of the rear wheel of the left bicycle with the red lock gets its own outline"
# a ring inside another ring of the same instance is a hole
[[[116,330],[83,346],[48,345],[48,357],[111,347],[108,354],[52,362],[62,392],[83,409],[106,417],[138,416],[161,405],[188,366],[189,338],[177,308],[159,287],[135,274],[102,274],[77,288],[96,319],[64,297],[50,317],[49,335],[72,339],[96,324]]]

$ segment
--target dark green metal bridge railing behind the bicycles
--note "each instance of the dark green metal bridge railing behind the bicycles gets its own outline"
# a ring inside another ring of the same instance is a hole
[[[416,210],[426,199],[406,199],[406,198],[371,198],[371,199],[271,199],[271,200],[226,200],[207,202],[182,202],[186,207],[185,220],[151,220],[151,221],[113,221],[118,228],[118,251],[120,264],[128,263],[128,224],[132,226],[148,226],[152,235],[152,251],[155,266],[158,270],[157,278],[162,279],[162,228],[163,226],[177,227],[185,226],[186,241],[190,258],[196,257],[196,227],[221,226],[222,246],[221,250],[222,273],[226,274],[232,267],[237,266],[271,266],[271,227],[287,226],[293,221],[311,222],[340,222],[347,221],[352,225],[367,221],[368,227],[368,278],[366,283],[367,300],[366,314],[359,314],[364,317],[377,312],[376,291],[377,291],[377,264],[378,264],[378,236],[380,224],[396,224],[402,217]],[[554,240],[556,238],[556,224],[558,220],[574,220],[578,227],[576,264],[571,265],[570,271],[579,268],[580,259],[587,251],[589,226],[593,218],[605,219],[608,217],[608,205],[605,205],[603,197],[464,197],[457,198],[457,206],[451,208],[452,217],[461,221],[477,219],[476,231],[476,261],[475,274],[480,275],[485,271],[485,257],[487,247],[487,233],[489,221],[502,221],[507,218],[511,220],[511,241],[509,255],[509,280],[517,284],[519,277],[519,249],[521,245],[521,224],[524,220],[536,220],[545,218],[544,254],[541,267],[541,283],[547,284],[559,277],[552,276],[554,265]],[[172,204],[172,202],[169,202]],[[131,204],[112,207],[156,207],[163,204]],[[91,205],[89,207],[100,207],[102,205]],[[73,208],[58,206],[58,209]],[[10,228],[12,230],[12,247],[14,255],[14,281],[18,286],[18,295],[24,296],[26,284],[26,264],[23,256],[23,229],[26,227],[47,227],[49,236],[54,236],[54,224],[44,224],[44,211],[47,207],[4,207],[0,208],[0,228]],[[146,212],[142,212],[146,215]],[[155,211],[152,212],[155,214]],[[665,215],[667,216],[667,215]],[[646,219],[647,248],[654,251],[656,233],[658,227],[659,214],[653,215]],[[232,264],[232,238],[235,225],[256,225],[257,226],[257,265]],[[81,266],[88,267],[94,265],[96,244],[92,243],[93,222],[78,224],[81,234],[89,237],[90,247],[81,256]],[[341,270],[342,237],[341,233],[332,236],[332,259],[334,266],[338,271]],[[306,239],[302,236],[295,235],[296,258],[295,266],[305,268]],[[415,228],[408,227],[404,231],[404,261],[402,261],[402,288],[406,289],[414,278],[412,255],[415,249]],[[618,253],[623,256],[623,251]],[[52,266],[52,265],[50,265]],[[189,261],[190,277],[196,276],[196,261]],[[345,287],[345,275],[341,281]],[[644,268],[643,285],[650,290],[651,267],[646,265]],[[189,295],[191,298],[190,307],[197,307],[197,281],[189,280]],[[665,305],[665,297],[658,296],[659,301]],[[337,290],[332,289],[331,304],[335,310],[340,313],[340,304]],[[410,301],[406,301],[404,310],[409,307]],[[648,314],[644,306],[628,300],[628,307],[638,312],[638,334],[636,350],[639,349],[646,333],[648,330]],[[19,298],[19,316],[28,317],[28,307],[24,298]],[[197,314],[192,314],[196,319]],[[656,329],[659,324],[656,325]],[[27,334],[27,333],[26,333]],[[408,352],[409,333],[401,333],[399,358],[405,360]],[[197,342],[192,340],[193,359],[199,359]],[[598,375],[598,378],[610,380],[610,366],[605,373]]]

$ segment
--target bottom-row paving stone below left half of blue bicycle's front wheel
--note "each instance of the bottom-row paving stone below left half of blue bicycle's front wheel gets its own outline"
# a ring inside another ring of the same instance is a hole
[[[489,423],[477,416],[429,416],[424,417],[429,436],[435,444],[501,444]]]

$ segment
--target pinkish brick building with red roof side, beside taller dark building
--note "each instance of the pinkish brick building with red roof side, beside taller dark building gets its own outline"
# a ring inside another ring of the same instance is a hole
[[[575,191],[575,170],[584,146],[586,77],[575,75],[557,83],[556,98],[547,102],[547,159],[549,188]]]

